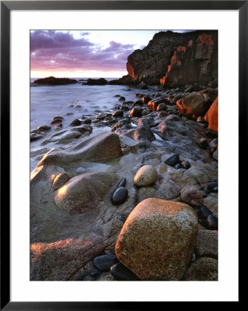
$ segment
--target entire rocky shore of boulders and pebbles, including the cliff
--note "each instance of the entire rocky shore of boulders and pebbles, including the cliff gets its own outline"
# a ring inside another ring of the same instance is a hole
[[[218,281],[216,40],[159,32],[108,82],[133,100],[32,129],[31,280]]]

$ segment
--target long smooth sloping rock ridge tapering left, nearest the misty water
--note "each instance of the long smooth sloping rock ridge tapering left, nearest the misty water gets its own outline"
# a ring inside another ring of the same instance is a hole
[[[38,166],[56,164],[61,167],[71,162],[97,162],[122,155],[119,136],[104,131],[97,133],[66,150],[46,153]]]

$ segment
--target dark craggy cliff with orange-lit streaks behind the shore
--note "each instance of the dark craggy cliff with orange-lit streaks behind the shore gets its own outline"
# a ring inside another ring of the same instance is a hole
[[[126,69],[135,83],[208,84],[218,78],[218,32],[158,32],[148,46],[128,56]]]

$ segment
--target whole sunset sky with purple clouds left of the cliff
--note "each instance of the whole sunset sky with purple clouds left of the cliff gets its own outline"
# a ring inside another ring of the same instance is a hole
[[[128,55],[160,31],[32,30],[30,77],[122,77]]]

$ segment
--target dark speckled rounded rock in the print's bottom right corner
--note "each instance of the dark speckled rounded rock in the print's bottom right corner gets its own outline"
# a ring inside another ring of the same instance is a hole
[[[218,261],[201,257],[191,263],[182,281],[218,281]]]

